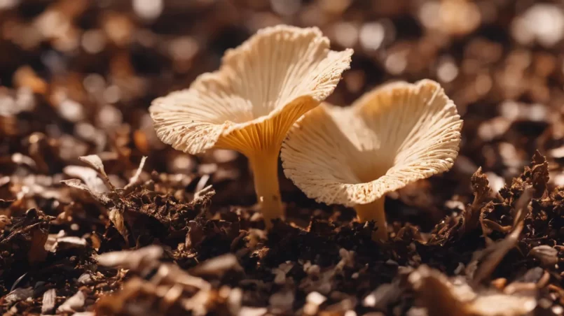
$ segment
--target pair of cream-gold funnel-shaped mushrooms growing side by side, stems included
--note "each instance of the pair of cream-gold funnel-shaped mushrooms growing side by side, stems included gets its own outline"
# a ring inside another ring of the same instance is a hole
[[[228,50],[221,68],[149,108],[158,137],[192,155],[241,152],[254,172],[267,227],[284,215],[284,173],[310,198],[352,206],[386,239],[384,196],[447,171],[458,155],[462,120],[438,83],[388,84],[348,108],[324,103],[352,50],[329,49],[319,29],[268,27]],[[284,144],[282,144],[284,142]]]

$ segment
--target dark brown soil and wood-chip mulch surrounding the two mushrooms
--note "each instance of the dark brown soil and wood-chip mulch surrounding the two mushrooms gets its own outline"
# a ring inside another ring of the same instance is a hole
[[[350,2],[0,1],[0,311],[561,315],[564,8]],[[152,99],[277,23],[355,48],[332,103],[432,78],[458,106],[455,166],[387,197],[388,243],[282,172],[264,231],[245,157],[158,141]]]

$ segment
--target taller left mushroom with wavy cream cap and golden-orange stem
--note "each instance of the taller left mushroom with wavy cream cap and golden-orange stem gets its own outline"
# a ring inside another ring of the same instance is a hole
[[[283,215],[278,153],[288,129],[333,92],[352,50],[329,49],[317,27],[261,29],[226,51],[219,71],[149,108],[163,143],[192,155],[211,148],[241,152],[254,172],[266,226]]]

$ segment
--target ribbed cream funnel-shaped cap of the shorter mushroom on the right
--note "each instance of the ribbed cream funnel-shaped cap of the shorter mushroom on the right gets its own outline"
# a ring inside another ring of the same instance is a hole
[[[285,175],[321,203],[355,206],[447,171],[460,145],[456,106],[432,80],[394,82],[352,106],[323,103],[282,144]]]

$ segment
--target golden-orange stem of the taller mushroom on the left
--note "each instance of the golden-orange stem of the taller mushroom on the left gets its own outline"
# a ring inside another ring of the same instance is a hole
[[[263,152],[249,158],[254,173],[256,200],[261,204],[264,224],[272,227],[271,220],[284,216],[280,186],[278,185],[278,152]]]

